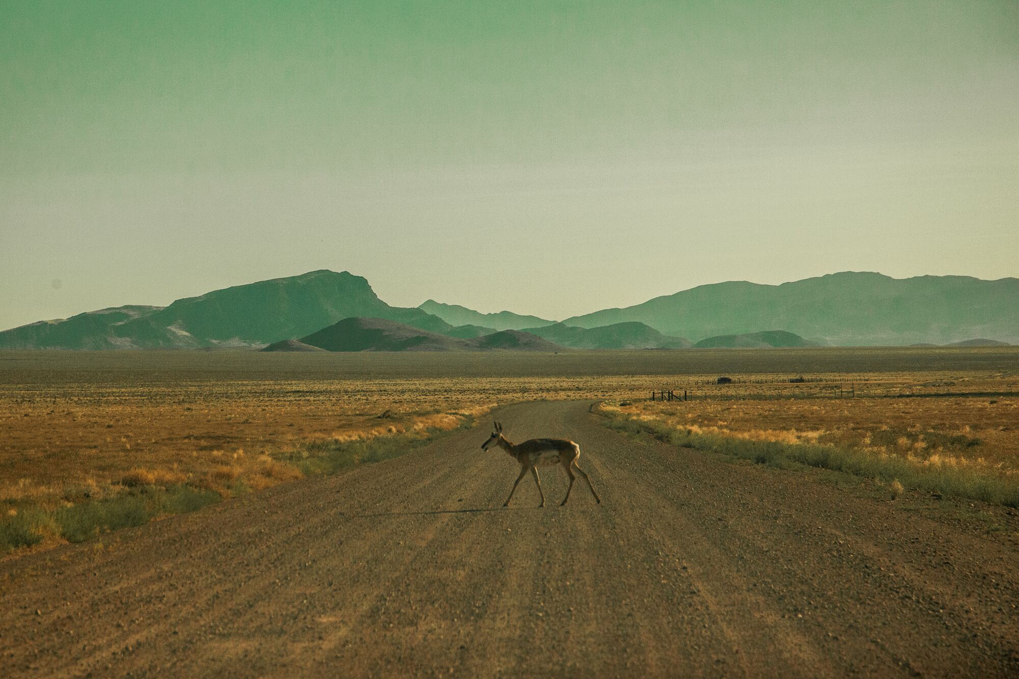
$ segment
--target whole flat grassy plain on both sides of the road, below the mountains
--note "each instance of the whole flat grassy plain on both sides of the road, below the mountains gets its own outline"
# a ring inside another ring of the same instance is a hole
[[[719,375],[734,382],[717,384]],[[800,375],[808,381],[790,382]],[[849,381],[859,398],[826,398],[832,385]],[[690,400],[650,403],[651,391],[661,388],[687,388]],[[1013,390],[1019,391],[1016,348],[3,352],[0,550],[82,539],[337,464],[398,454],[493,406],[535,399],[599,400],[628,417],[713,434],[849,446],[1014,473],[1019,397],[1009,396]],[[1005,396],[969,396],[982,394]],[[897,398],[907,395],[930,398]],[[385,453],[369,445],[382,439]],[[126,514],[117,516],[124,503]]]

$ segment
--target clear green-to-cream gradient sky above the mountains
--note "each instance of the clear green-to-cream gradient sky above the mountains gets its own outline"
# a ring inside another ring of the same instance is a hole
[[[0,328],[1019,275],[1019,2],[0,0]]]

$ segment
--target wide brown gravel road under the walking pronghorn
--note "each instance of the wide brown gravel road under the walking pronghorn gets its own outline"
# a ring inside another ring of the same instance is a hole
[[[587,404],[602,504],[487,428],[0,564],[0,674],[1019,676],[1019,554],[818,482],[626,438]],[[1019,519],[1007,519],[1007,531]]]

